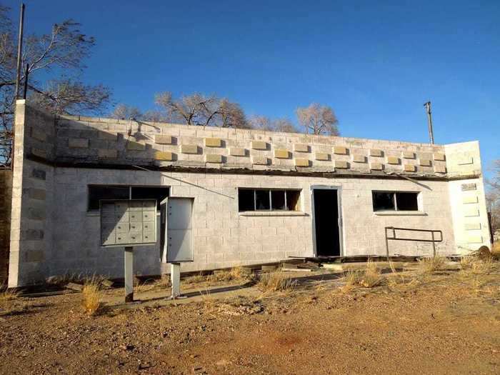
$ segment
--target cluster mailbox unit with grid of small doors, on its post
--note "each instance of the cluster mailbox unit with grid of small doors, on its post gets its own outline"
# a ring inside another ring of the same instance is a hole
[[[156,199],[99,201],[101,246],[125,248],[125,302],[134,301],[134,246],[156,244]]]

